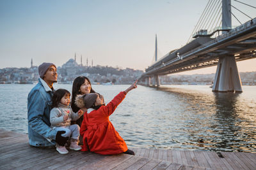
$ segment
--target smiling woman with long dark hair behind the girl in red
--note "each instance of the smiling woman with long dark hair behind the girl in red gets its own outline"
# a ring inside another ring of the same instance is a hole
[[[72,100],[71,100],[71,108],[76,113],[81,108],[78,108],[75,104],[76,96],[78,94],[89,94],[89,93],[95,93],[95,91],[92,89],[92,85],[90,80],[85,76],[79,76],[77,77],[72,86]],[[86,109],[83,109],[84,112],[86,112]],[[77,124],[81,127],[81,124],[83,122],[83,116],[76,120],[76,122],[72,122],[72,124]]]

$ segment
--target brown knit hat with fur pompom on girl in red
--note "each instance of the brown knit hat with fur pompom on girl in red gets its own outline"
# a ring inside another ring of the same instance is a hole
[[[96,102],[98,97],[97,93],[89,93],[84,95],[77,95],[75,104],[79,108],[91,108],[93,104]]]

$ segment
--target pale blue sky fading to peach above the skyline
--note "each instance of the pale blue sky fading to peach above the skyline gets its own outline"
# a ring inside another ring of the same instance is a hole
[[[255,0],[240,0],[256,6]],[[207,0],[0,0],[0,69],[39,66],[69,59],[93,66],[145,70],[159,57],[186,45]],[[256,9],[231,3],[252,18]],[[244,23],[250,18],[232,11]],[[239,25],[234,17],[232,25]],[[256,59],[237,62],[256,71]],[[215,73],[216,67],[179,74]]]

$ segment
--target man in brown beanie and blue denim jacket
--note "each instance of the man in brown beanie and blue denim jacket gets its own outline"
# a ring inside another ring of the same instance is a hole
[[[65,131],[51,128],[50,111],[53,83],[57,82],[57,69],[52,63],[44,62],[38,67],[38,83],[28,94],[28,138],[31,146],[64,146],[67,139],[61,136]]]

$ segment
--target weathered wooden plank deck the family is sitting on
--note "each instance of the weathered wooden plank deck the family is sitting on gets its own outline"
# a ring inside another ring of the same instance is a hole
[[[0,169],[256,169],[256,153],[131,148],[133,155],[99,155],[28,145],[28,135],[0,129]]]

